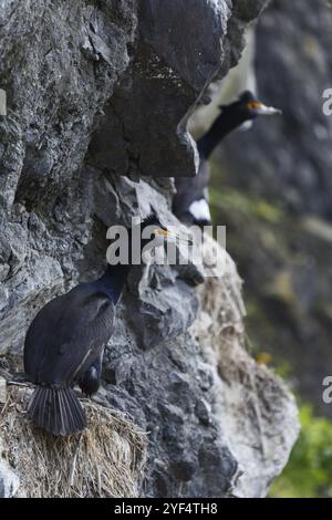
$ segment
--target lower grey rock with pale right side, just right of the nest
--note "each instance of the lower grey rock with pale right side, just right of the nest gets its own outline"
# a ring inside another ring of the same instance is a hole
[[[145,350],[122,308],[103,399],[149,431],[145,495],[263,497],[297,439],[297,405],[246,352],[241,281],[228,256],[224,275],[198,295],[194,325]]]

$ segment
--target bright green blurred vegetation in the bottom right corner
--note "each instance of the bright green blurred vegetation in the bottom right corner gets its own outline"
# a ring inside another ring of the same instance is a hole
[[[301,406],[302,430],[290,461],[274,481],[270,497],[332,497],[332,420],[313,415]]]

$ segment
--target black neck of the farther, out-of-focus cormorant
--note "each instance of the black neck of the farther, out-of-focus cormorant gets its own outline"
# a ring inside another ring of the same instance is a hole
[[[208,159],[216,146],[245,119],[236,114],[221,113],[214,122],[210,129],[197,141],[197,149],[201,159]]]

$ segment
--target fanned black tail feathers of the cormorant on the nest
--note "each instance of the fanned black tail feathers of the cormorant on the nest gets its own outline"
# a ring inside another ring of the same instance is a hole
[[[70,435],[86,427],[84,408],[73,388],[39,386],[30,398],[28,414],[54,435]]]

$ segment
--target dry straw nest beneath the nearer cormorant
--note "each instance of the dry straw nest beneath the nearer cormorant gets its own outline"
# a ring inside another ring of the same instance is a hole
[[[54,437],[27,416],[29,392],[9,387],[0,405],[0,456],[20,478],[20,496],[137,497],[146,453],[143,430],[122,414],[86,402],[87,428]]]

